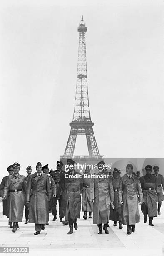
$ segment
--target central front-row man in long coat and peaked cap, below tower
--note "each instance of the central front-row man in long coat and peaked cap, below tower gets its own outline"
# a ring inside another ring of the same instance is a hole
[[[70,231],[67,234],[70,235],[73,233],[73,227],[75,228],[75,230],[77,230],[77,219],[80,218],[80,191],[82,189],[82,183],[80,182],[80,178],[76,177],[78,173],[74,169],[74,165],[76,165],[75,161],[73,161],[72,159],[67,159],[67,165],[69,171],[63,174],[61,184],[63,186],[62,189],[64,189],[62,198],[65,202],[65,207],[64,205],[62,205],[62,207],[65,219],[68,220],[70,227]]]

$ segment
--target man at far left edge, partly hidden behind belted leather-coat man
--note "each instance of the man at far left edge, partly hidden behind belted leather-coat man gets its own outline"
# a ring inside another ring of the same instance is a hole
[[[12,165],[7,167],[7,171],[9,172],[9,175],[13,175],[14,172],[13,172]],[[6,180],[8,179],[8,176],[3,177],[2,182],[0,184],[0,197],[3,197],[3,191],[4,191]],[[9,198],[8,198],[8,196],[7,196],[7,199],[3,200],[3,215],[6,215],[7,218],[9,218]],[[10,228],[13,228],[12,222],[9,222],[9,226],[10,226]]]

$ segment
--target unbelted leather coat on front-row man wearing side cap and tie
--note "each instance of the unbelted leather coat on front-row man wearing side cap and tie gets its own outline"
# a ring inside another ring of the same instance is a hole
[[[30,195],[32,189],[32,193]],[[46,224],[49,221],[50,182],[47,174],[31,174],[27,182],[26,201],[29,205],[29,222]]]

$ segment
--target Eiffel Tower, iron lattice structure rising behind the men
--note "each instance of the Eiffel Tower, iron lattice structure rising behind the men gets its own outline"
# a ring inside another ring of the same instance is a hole
[[[71,130],[65,148],[64,158],[73,158],[75,143],[77,135],[85,134],[87,138],[87,147],[89,158],[102,158],[99,154],[96,139],[93,132],[94,123],[91,121],[89,110],[88,86],[87,86],[87,60],[86,60],[86,44],[85,33],[87,27],[85,26],[83,16],[80,21],[79,27],[79,50],[77,62],[77,84],[75,107],[73,113],[73,120],[70,123]],[[87,156],[85,156],[87,157]]]

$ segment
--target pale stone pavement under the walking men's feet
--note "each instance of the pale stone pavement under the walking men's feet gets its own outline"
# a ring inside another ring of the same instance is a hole
[[[34,236],[34,224],[19,223],[20,228],[12,233],[8,227],[8,219],[2,216],[2,202],[0,202],[0,247],[29,247],[30,255],[46,255],[57,253],[58,255],[139,255],[159,256],[164,248],[164,202],[161,215],[154,218],[154,227],[141,221],[136,224],[136,232],[127,235],[126,226],[119,230],[113,227],[113,221],[109,223],[109,235],[97,234],[97,225],[93,225],[92,218],[84,220],[81,212],[80,220],[77,220],[78,230],[72,235],[67,235],[68,226],[60,223],[59,218],[52,222],[50,213],[49,225],[40,235]]]

